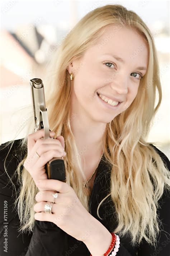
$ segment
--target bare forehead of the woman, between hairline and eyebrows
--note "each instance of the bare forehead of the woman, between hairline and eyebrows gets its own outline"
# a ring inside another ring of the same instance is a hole
[[[147,66],[148,44],[137,31],[119,25],[108,25],[102,30],[103,34],[98,41],[89,48],[89,56],[115,54],[123,58],[125,63],[133,60]]]

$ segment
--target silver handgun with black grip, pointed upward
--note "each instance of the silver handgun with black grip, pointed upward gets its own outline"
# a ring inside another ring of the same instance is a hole
[[[44,129],[44,137],[42,139],[50,138],[49,131],[51,130],[49,130],[43,81],[40,78],[31,79],[30,90],[32,109],[34,113],[34,132]],[[66,171],[63,157],[52,158],[45,165],[45,169],[48,179],[66,182]]]

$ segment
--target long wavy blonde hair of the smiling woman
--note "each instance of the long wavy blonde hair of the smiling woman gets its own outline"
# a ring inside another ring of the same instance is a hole
[[[128,232],[132,237],[132,245],[137,245],[144,238],[155,246],[160,231],[156,212],[158,200],[164,188],[169,190],[170,179],[169,170],[150,145],[154,142],[146,142],[151,121],[161,104],[162,91],[154,39],[135,12],[117,4],[96,8],[86,14],[62,41],[48,63],[47,81],[44,83],[49,93],[46,93],[49,127],[55,131],[55,138],[59,135],[65,138],[67,184],[73,187],[82,205],[89,211],[89,194],[82,186],[85,176],[70,127],[70,120],[75,117],[70,116],[72,84],[67,69],[73,60],[79,59],[95,44],[103,33],[101,28],[111,24],[129,27],[142,35],[148,43],[149,62],[131,106],[106,125],[103,150],[108,167],[111,168],[110,193],[99,203],[97,215],[101,219],[99,207],[110,196],[118,220],[117,227],[112,231],[120,237]],[[156,89],[159,100],[155,107]],[[33,119],[31,122],[33,124]],[[24,152],[24,158],[20,158],[15,171],[20,186],[15,200],[20,219],[19,231],[33,231],[33,206],[37,203],[35,195],[38,193],[32,177],[23,167],[27,158],[27,137],[28,134],[20,142],[19,148]]]

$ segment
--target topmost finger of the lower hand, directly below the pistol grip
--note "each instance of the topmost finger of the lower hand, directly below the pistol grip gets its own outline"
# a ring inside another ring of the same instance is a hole
[[[71,187],[66,182],[53,179],[38,180],[36,185],[42,189],[56,190],[59,193],[67,193],[71,189]]]

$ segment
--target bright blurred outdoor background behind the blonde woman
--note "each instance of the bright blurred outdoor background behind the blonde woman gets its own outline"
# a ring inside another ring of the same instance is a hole
[[[159,56],[162,103],[147,141],[170,159],[169,1],[1,1],[0,144],[23,138],[32,115],[29,80],[44,79],[46,65],[74,25],[91,10],[121,4],[150,28]],[[45,86],[45,84],[44,84]]]

